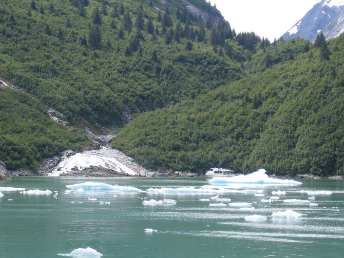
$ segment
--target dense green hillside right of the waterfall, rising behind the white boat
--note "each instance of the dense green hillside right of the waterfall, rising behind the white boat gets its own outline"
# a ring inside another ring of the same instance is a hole
[[[290,44],[303,49],[307,42],[279,42],[252,60]],[[143,114],[113,146],[151,168],[197,171],[221,162],[237,172],[343,174],[343,46],[342,36],[330,42],[329,60],[318,48],[301,51],[264,72]]]

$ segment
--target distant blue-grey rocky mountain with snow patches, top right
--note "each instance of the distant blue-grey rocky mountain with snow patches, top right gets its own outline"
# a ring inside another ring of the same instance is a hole
[[[342,13],[344,10],[343,0],[322,0],[315,4],[306,15],[295,23],[281,38],[290,40],[297,37],[304,38],[314,42],[317,34],[320,31],[325,31],[325,28]],[[325,37],[326,39],[338,37],[337,34],[330,32],[330,27],[327,27]],[[338,30],[338,29],[337,29]],[[328,36],[326,36],[328,34]],[[330,36],[333,35],[333,36]]]

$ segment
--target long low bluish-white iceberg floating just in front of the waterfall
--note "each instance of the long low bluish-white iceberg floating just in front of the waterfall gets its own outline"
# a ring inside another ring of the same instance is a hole
[[[135,192],[135,193],[144,192],[133,186],[118,186],[118,185],[111,185],[111,184],[97,183],[97,182],[71,184],[71,185],[66,185],[66,187],[74,191],[79,191],[79,192],[83,192],[83,191],[118,191],[118,192]]]

